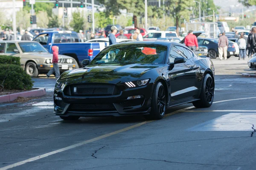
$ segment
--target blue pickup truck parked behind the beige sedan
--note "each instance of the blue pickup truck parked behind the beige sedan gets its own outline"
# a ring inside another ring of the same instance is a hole
[[[39,42],[50,53],[52,53],[53,45],[58,46],[59,54],[73,57],[79,66],[81,66],[82,60],[92,60],[106,46],[105,42],[79,42],[78,34],[75,31],[41,32],[33,41]]]

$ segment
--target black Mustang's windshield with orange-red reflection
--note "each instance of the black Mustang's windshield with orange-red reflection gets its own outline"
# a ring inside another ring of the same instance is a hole
[[[90,65],[105,64],[163,64],[166,58],[167,47],[163,45],[126,45],[113,46],[100,52]]]

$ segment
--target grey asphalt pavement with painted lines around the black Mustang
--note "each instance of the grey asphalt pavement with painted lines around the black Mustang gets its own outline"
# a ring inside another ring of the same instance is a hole
[[[255,170],[256,78],[241,77],[255,70],[237,57],[213,62],[214,104],[169,108],[156,121],[63,121],[52,113],[56,79],[34,78],[46,96],[0,105],[0,170]]]

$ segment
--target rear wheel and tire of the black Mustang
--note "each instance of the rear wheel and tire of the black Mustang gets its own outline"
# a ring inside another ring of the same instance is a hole
[[[192,102],[196,108],[209,108],[214,98],[214,82],[210,74],[204,77],[199,100]]]

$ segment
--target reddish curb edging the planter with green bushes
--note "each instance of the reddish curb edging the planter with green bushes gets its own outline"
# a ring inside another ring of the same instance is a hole
[[[0,103],[12,102],[18,97],[37,97],[37,96],[44,96],[45,94],[46,94],[45,88],[39,88],[37,90],[24,91],[24,92],[14,93],[14,94],[7,94],[7,95],[0,96]]]

